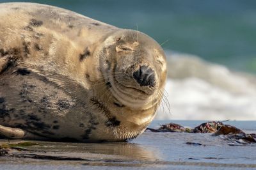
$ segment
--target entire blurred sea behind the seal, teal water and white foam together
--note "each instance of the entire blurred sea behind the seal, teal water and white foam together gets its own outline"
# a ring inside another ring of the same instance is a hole
[[[168,81],[156,119],[256,120],[256,1],[26,2],[138,29],[159,42]]]

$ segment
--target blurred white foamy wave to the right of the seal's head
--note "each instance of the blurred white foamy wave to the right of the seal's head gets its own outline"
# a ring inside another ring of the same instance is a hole
[[[158,120],[256,120],[255,77],[235,73],[225,66],[195,56],[168,58],[166,91]]]

